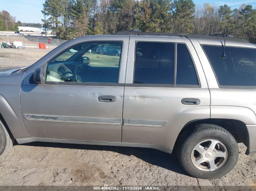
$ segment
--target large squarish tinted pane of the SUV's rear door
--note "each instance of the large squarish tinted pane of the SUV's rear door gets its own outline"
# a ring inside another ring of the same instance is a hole
[[[135,84],[173,84],[174,43],[136,43]]]

